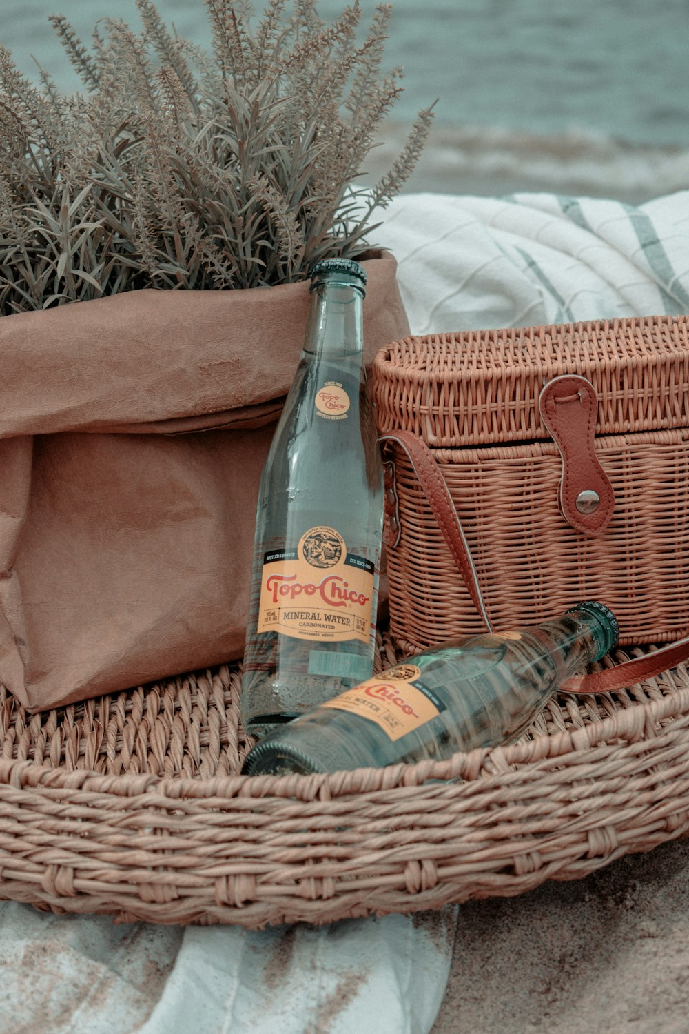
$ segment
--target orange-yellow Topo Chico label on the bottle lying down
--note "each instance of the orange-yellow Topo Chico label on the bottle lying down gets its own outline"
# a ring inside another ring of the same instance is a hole
[[[418,681],[420,674],[415,664],[400,664],[320,706],[361,714],[379,725],[392,740],[400,739],[445,710],[442,700]]]

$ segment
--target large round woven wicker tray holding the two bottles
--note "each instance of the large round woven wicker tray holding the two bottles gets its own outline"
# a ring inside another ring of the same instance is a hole
[[[379,633],[376,670],[397,660]],[[326,922],[521,893],[689,828],[684,666],[562,696],[509,748],[279,779],[237,774],[239,671],[34,717],[3,692],[0,898],[120,921]]]

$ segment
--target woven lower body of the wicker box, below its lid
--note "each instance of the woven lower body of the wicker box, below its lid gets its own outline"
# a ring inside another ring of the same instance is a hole
[[[496,628],[533,625],[577,600],[602,600],[621,642],[689,630],[689,432],[610,436],[598,456],[616,493],[599,538],[558,506],[561,461],[545,443],[438,450]],[[483,630],[403,450],[394,448],[402,537],[387,559],[396,639],[408,650]]]

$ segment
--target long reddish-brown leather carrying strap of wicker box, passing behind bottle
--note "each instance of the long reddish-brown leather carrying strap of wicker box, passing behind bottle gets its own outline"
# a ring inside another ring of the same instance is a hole
[[[409,431],[383,434],[380,440],[395,443],[409,457],[469,596],[483,618],[486,628],[489,632],[492,631],[493,624],[483,602],[462,523],[445,484],[445,479],[431,450],[425,442]],[[655,678],[656,675],[687,660],[689,660],[689,636],[654,650],[652,653],[625,661],[613,668],[605,668],[587,675],[575,675],[564,682],[561,690],[566,693],[609,693],[613,690],[626,689],[645,678]]]

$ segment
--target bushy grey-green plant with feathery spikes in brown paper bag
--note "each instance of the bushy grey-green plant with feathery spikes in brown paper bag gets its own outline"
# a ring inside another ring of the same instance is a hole
[[[412,172],[419,113],[373,190],[357,184],[401,92],[382,70],[392,7],[356,44],[358,0],[205,0],[206,53],[136,0],[143,32],[105,20],[89,48],[51,21],[85,92],[40,87],[0,47],[0,314],[144,286],[250,287],[355,255]]]

